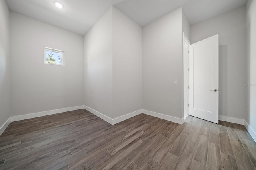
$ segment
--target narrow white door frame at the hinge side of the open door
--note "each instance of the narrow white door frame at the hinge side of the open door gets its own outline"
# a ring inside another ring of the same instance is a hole
[[[188,45],[188,50],[185,51],[185,43]],[[182,96],[183,96],[183,106],[182,106],[182,109],[183,109],[183,118],[184,120],[186,119],[186,117],[189,115],[189,112],[188,112],[188,102],[189,102],[189,96],[188,96],[188,80],[189,80],[189,72],[188,72],[188,67],[189,67],[189,55],[186,55],[188,54],[188,51],[189,51],[189,45],[190,45],[190,41],[188,39],[188,37],[186,36],[186,34],[183,32],[183,90],[182,90]]]

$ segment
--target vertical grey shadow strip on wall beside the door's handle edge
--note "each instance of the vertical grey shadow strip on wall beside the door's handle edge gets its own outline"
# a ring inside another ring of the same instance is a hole
[[[219,115],[227,115],[228,45],[219,45]]]

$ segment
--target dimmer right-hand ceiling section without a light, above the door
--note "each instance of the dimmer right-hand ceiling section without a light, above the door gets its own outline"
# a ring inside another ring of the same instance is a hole
[[[127,0],[115,4],[142,27],[182,6],[192,25],[246,4],[247,0]]]

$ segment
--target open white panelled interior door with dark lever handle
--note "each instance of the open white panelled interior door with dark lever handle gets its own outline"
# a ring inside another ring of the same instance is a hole
[[[189,46],[189,115],[219,123],[218,34]]]

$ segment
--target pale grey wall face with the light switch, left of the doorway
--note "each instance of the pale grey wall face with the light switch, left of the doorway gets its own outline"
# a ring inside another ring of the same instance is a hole
[[[181,119],[182,9],[146,25],[142,35],[142,107]]]

